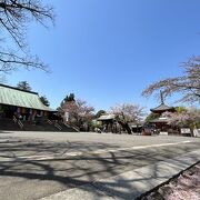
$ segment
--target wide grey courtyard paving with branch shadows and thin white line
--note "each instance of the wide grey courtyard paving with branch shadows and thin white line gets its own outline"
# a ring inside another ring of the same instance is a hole
[[[0,131],[0,199],[40,199],[197,150],[199,138]]]

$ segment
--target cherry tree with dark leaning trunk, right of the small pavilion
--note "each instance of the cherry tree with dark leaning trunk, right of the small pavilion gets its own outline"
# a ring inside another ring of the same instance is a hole
[[[128,134],[131,134],[130,122],[139,122],[143,117],[143,108],[139,104],[122,103],[111,108],[111,113],[116,116],[116,120]]]

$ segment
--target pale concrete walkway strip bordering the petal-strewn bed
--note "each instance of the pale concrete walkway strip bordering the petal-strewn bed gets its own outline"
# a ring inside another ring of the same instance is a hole
[[[192,151],[182,157],[167,159],[166,161],[128,171],[109,179],[98,180],[79,188],[58,192],[41,200],[137,199],[142,193],[168,181],[199,160],[200,150]]]

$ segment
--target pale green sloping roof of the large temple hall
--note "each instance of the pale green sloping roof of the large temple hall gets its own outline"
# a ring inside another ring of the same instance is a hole
[[[40,101],[37,92],[22,91],[4,84],[0,84],[0,104],[53,111]]]

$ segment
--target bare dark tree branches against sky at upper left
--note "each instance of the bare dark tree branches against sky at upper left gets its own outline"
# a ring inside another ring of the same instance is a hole
[[[8,73],[19,67],[47,70],[47,66],[28,48],[27,27],[31,21],[42,26],[53,21],[52,7],[42,0],[0,1],[0,72]]]

